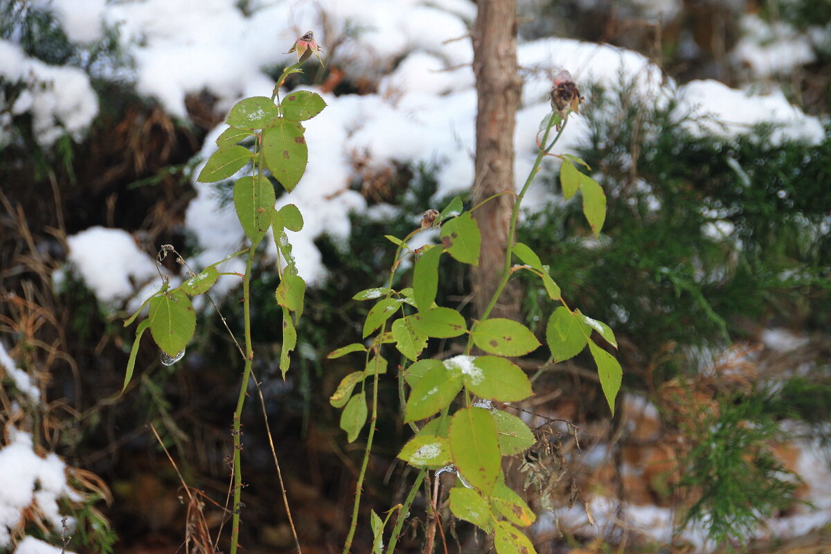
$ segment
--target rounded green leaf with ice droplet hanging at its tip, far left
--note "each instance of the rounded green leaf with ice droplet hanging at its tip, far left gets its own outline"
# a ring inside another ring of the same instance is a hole
[[[184,291],[165,292],[150,299],[150,334],[165,354],[175,358],[196,331],[196,311]]]

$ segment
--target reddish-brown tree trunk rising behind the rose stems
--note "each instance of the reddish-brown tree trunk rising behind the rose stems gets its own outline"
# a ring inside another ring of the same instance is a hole
[[[473,201],[514,191],[514,125],[521,81],[517,73],[515,0],[479,0],[473,30],[473,69],[476,76],[476,163]],[[479,267],[473,272],[477,314],[493,296],[504,267],[505,248],[514,198],[499,196],[474,214],[482,232]],[[516,316],[519,289],[505,289],[493,316]]]

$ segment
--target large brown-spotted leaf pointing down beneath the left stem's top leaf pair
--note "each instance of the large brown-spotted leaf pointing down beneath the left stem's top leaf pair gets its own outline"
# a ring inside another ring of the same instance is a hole
[[[283,118],[277,123],[263,131],[263,157],[274,178],[292,192],[306,172],[308,148],[302,125]]]

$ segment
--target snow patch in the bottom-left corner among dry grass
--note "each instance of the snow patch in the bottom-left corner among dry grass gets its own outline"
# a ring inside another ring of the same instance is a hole
[[[61,529],[58,499],[80,499],[78,493],[66,484],[66,465],[50,453],[41,458],[34,453],[32,435],[7,428],[8,444],[0,449],[0,547],[12,546],[12,530],[17,527],[22,511],[37,503],[37,509],[55,530]],[[71,528],[74,522],[67,522]],[[27,546],[32,550],[17,552],[50,552],[37,550],[37,543]],[[42,547],[41,547],[42,548]]]

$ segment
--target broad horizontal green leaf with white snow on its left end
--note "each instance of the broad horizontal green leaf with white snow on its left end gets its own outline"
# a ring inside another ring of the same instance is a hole
[[[516,402],[534,395],[528,376],[511,360],[483,355],[473,360],[472,366],[472,370],[463,371],[465,386],[479,398]]]

